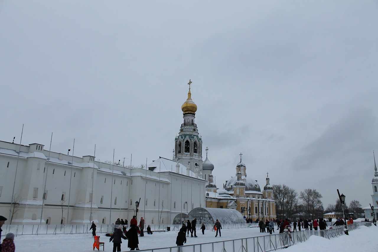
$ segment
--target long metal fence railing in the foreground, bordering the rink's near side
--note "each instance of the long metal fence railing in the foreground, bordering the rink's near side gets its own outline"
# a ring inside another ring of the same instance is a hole
[[[356,225],[357,226],[357,225]],[[311,235],[322,236],[330,239],[344,235],[344,227],[338,226],[327,230],[297,231],[291,233],[291,238],[285,233],[274,235],[263,235],[237,240],[217,241],[214,243],[202,243],[186,245],[180,247],[165,247],[158,249],[145,249],[146,252],[208,252],[208,251],[227,251],[227,252],[269,252],[293,244],[302,243],[308,240]]]

